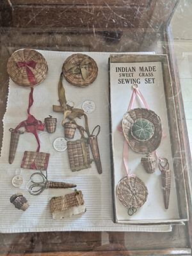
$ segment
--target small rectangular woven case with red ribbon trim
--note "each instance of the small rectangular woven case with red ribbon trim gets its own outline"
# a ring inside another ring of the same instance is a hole
[[[47,170],[50,154],[44,152],[25,151],[21,168]]]

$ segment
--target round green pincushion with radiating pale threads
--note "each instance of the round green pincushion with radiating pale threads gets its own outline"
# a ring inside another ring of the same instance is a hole
[[[148,120],[136,120],[131,127],[132,136],[138,140],[149,140],[154,134],[154,125]]]

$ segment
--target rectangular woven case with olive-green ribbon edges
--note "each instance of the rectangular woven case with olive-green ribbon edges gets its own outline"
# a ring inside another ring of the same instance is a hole
[[[91,167],[90,152],[86,139],[67,141],[67,152],[72,172]]]

